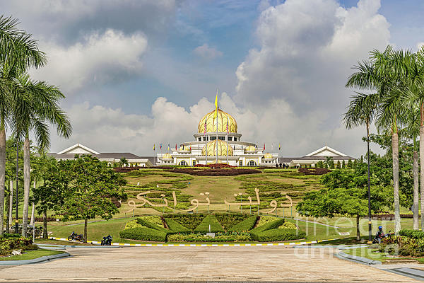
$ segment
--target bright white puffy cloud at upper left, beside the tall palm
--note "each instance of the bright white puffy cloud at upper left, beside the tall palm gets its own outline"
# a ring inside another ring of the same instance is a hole
[[[147,39],[141,33],[124,35],[117,30],[91,33],[84,42],[63,47],[53,42],[40,44],[49,57],[47,67],[34,70],[37,79],[61,86],[66,93],[84,86],[120,81],[140,74]]]

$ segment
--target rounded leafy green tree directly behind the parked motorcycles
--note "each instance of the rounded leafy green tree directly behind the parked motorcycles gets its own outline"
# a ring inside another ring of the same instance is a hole
[[[84,241],[87,242],[88,220],[96,216],[111,219],[118,212],[113,200],[126,200],[122,175],[115,173],[98,158],[75,156],[69,166],[69,194],[61,205],[64,221],[84,219]]]

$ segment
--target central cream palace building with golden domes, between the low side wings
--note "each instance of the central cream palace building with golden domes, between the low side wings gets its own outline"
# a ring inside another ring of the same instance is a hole
[[[196,164],[227,163],[232,166],[273,166],[278,154],[264,152],[249,141],[242,140],[237,122],[227,112],[208,112],[199,121],[194,140],[179,145],[172,152],[157,154],[156,165],[195,166]]]

